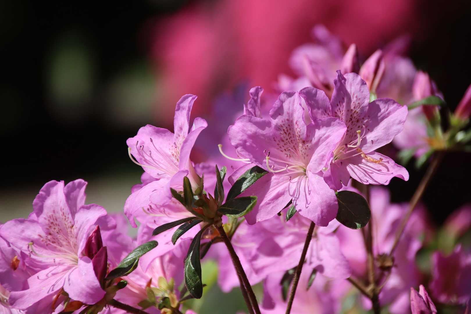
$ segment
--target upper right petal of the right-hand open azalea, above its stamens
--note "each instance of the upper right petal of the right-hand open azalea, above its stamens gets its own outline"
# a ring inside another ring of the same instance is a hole
[[[366,136],[360,143],[360,149],[369,153],[389,144],[404,129],[407,106],[401,106],[389,98],[376,99],[368,105],[366,113]],[[368,130],[369,129],[369,130]]]

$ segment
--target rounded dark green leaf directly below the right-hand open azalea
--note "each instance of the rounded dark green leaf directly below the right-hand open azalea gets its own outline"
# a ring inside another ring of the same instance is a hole
[[[339,191],[335,195],[339,203],[336,218],[342,225],[360,229],[370,221],[370,206],[363,196],[351,191]]]

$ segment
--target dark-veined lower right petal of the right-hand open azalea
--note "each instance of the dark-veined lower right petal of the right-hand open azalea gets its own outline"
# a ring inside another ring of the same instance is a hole
[[[367,156],[375,160],[382,158],[382,161],[376,163],[361,157],[361,155],[343,160],[343,165],[349,170],[350,176],[358,182],[388,185],[393,177],[399,177],[405,181],[409,179],[406,168],[399,166],[389,157],[376,152],[368,153]]]

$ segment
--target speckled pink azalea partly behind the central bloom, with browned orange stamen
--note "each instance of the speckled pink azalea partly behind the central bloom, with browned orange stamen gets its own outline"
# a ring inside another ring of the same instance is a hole
[[[350,177],[363,184],[389,184],[392,177],[409,179],[407,170],[392,159],[374,152],[391,142],[403,129],[407,107],[392,99],[369,102],[370,92],[358,74],[337,71],[332,100],[322,91],[304,88],[304,97],[312,119],[340,118],[347,132],[333,149],[333,157],[324,173],[331,189],[340,190]]]

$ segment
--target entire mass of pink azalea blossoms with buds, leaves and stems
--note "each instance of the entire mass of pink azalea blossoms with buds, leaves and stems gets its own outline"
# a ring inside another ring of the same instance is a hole
[[[194,95],[177,103],[174,133],[147,125],[128,139],[145,171],[124,205],[136,238],[124,216],[85,204],[83,180],[44,185],[28,218],[0,225],[0,312],[191,314],[200,259],[217,261],[223,291],[241,287],[249,313],[431,314],[432,298],[469,302],[471,253],[459,240],[471,207],[435,233],[421,203],[391,204],[370,185],[408,180],[378,152],[391,142],[422,163],[466,144],[470,89],[444,131],[443,95],[403,56],[404,38],[360,66],[354,44],[344,50],[323,26],[313,34],[290,59],[300,77],[280,76],[274,103],[250,90],[227,131],[237,158],[190,160],[208,127],[195,118],[190,128]]]

